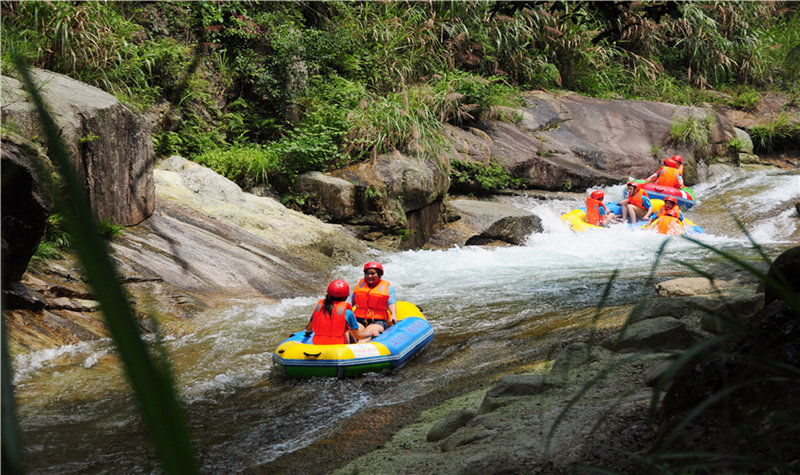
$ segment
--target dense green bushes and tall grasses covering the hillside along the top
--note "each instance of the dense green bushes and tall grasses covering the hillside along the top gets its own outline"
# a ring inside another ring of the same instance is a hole
[[[154,111],[159,155],[244,186],[433,153],[443,123],[514,120],[532,88],[745,110],[767,88],[800,95],[792,2],[3,2],[2,13],[4,65],[18,53]],[[781,146],[770,134],[757,142]]]

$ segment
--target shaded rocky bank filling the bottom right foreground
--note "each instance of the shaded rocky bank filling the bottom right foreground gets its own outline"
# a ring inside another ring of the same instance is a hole
[[[708,368],[698,370],[706,364],[702,361],[735,360],[738,365],[733,366],[743,368],[752,364],[743,359],[765,344],[796,346],[792,341],[798,333],[796,311],[777,308],[774,303],[765,308],[763,286],[759,289],[757,279],[739,271],[729,270],[726,277],[713,282],[684,278],[662,282],[657,288],[658,297],[630,309],[630,318],[620,331],[599,330],[590,340],[565,344],[553,359],[532,362],[537,367],[529,373],[503,376],[493,386],[426,410],[380,449],[333,473],[567,473],[595,469],[644,473],[657,465],[681,467],[698,461],[740,471],[749,465],[737,465],[734,460],[739,456],[753,457],[751,463],[764,462],[779,471],[796,467],[797,445],[791,436],[774,433],[774,425],[771,429],[762,425],[750,434],[741,433],[743,428],[737,426],[743,418],[752,419],[752,414],[764,417],[783,410],[777,401],[753,399],[750,389],[766,384],[759,376],[751,374],[746,379],[751,384],[745,384],[745,389],[725,395],[723,402],[707,408],[697,419],[702,423],[682,419],[693,403],[699,406],[705,397],[722,395],[736,384],[736,378],[728,380],[728,386],[708,383]],[[785,331],[776,337],[765,333],[764,325]],[[742,328],[748,330],[741,333],[738,330]],[[734,343],[709,343],[724,340],[722,335],[730,336]],[[689,358],[694,352],[704,357]],[[797,355],[792,352],[776,358],[797,367]],[[676,378],[675,373],[684,376]],[[677,382],[668,386],[673,380]],[[783,384],[787,392],[780,400],[790,400],[798,387],[795,375]],[[731,408],[725,404],[734,399],[741,405]],[[681,410],[665,412],[665,400],[671,410]],[[720,405],[725,405],[727,412],[716,409]],[[680,443],[671,444],[672,430]],[[724,441],[734,434],[740,439],[731,450]],[[759,437],[772,437],[775,446],[765,449],[758,443]],[[669,454],[679,449],[697,455],[670,458]],[[704,449],[716,455],[701,455]],[[795,455],[775,458],[786,449],[795,449]]]

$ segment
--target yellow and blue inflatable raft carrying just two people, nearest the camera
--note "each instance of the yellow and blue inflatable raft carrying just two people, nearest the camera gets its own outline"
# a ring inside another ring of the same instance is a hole
[[[368,343],[314,345],[297,332],[278,345],[272,364],[293,378],[345,378],[399,368],[433,340],[433,327],[410,302],[397,302],[398,322]]]

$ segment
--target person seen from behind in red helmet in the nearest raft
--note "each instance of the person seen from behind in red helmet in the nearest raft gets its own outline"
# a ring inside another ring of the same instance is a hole
[[[378,332],[368,332],[356,321],[352,307],[347,302],[350,286],[337,279],[328,285],[325,298],[317,302],[314,313],[306,325],[306,337],[314,338],[315,345],[339,345],[355,343],[361,339],[377,336]]]

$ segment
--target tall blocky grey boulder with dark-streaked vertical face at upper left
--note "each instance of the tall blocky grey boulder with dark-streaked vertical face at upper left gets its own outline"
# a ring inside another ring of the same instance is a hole
[[[155,153],[145,120],[96,87],[50,71],[31,72],[97,217],[130,226],[150,216]],[[3,128],[43,142],[22,84],[7,76],[2,83]]]

